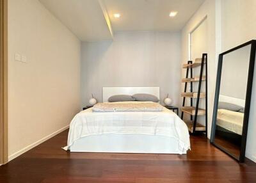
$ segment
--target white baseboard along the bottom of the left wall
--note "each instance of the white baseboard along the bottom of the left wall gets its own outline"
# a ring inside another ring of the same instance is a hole
[[[18,157],[19,155],[23,154],[24,152],[27,152],[28,150],[30,150],[33,147],[36,147],[37,145],[40,145],[40,143],[43,143],[44,141],[47,141],[47,139],[52,138],[53,136],[56,136],[56,134],[59,134],[60,132],[65,131],[66,129],[68,129],[69,125],[59,129],[58,131],[53,132],[52,134],[49,134],[48,136],[45,136],[44,138],[36,141],[35,143],[32,143],[31,145],[28,145],[27,147],[22,148],[21,150],[11,154],[8,156],[8,162],[12,161],[13,159],[15,159],[16,157]]]

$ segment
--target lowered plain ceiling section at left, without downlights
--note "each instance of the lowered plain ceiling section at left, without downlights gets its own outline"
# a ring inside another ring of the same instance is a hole
[[[97,0],[39,0],[82,41],[112,38]]]

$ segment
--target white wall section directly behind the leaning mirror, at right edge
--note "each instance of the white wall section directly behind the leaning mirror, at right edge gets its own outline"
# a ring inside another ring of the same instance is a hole
[[[256,1],[221,1],[221,48],[226,51],[236,45],[256,39]],[[256,68],[255,68],[256,69]],[[254,72],[252,100],[246,144],[246,157],[256,162],[256,74]]]

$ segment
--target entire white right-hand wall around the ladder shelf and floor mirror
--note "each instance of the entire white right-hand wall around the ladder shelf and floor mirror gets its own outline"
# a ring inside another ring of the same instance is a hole
[[[218,54],[236,45],[243,44],[248,40],[256,39],[256,1],[254,0],[206,0],[199,10],[193,15],[186,26],[182,29],[182,61],[189,58],[188,34],[196,25],[207,16],[207,52],[209,54],[209,86],[208,86],[208,138],[211,133],[213,100],[216,84],[216,68]],[[184,72],[182,72],[184,77]],[[256,74],[253,78],[253,90],[246,145],[246,157],[256,161]],[[183,87],[182,87],[182,90]]]

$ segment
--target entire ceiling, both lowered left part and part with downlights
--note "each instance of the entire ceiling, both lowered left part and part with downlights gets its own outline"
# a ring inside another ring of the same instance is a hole
[[[39,0],[82,41],[115,31],[179,31],[204,0]],[[169,17],[171,11],[178,12]],[[114,13],[120,13],[116,19]]]

